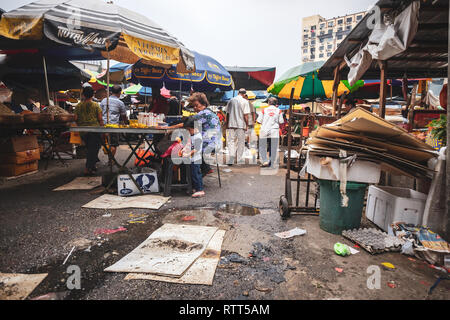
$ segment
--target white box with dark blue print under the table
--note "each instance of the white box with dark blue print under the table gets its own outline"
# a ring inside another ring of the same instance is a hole
[[[144,193],[159,192],[156,171],[133,174],[132,176]],[[117,193],[119,196],[126,197],[140,194],[140,191],[129,175],[121,174],[117,177]]]

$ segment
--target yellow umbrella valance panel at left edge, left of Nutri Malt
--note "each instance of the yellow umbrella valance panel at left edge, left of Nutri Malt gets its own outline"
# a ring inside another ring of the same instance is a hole
[[[42,19],[2,17],[0,35],[16,40],[40,40],[42,39]]]

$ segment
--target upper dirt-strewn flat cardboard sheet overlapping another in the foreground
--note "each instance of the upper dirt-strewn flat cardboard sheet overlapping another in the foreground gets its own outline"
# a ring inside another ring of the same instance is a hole
[[[167,223],[105,269],[181,277],[200,257],[218,228]]]

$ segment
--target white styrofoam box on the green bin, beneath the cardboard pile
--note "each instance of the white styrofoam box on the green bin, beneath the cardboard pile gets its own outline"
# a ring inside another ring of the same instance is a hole
[[[333,159],[329,166],[320,164],[320,157],[309,156],[306,163],[306,172],[318,179],[339,181],[339,160]],[[380,181],[381,167],[370,161],[356,160],[347,168],[347,181],[360,183],[378,183]]]

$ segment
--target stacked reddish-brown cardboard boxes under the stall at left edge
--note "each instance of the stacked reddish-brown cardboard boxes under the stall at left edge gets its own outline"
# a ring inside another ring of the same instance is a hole
[[[36,136],[0,140],[0,176],[13,177],[38,170],[40,159]]]

